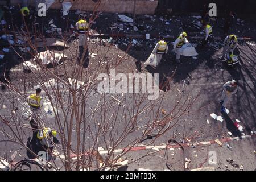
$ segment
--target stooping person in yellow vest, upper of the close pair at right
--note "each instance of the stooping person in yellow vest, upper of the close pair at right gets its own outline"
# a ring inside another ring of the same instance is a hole
[[[234,52],[234,49],[237,47],[237,37],[236,35],[228,35],[224,40],[224,47],[222,51],[222,56],[220,59],[224,58],[228,52]],[[224,58],[225,59],[225,58]]]

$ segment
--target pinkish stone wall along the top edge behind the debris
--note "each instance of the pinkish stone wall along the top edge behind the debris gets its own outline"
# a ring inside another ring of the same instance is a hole
[[[27,0],[31,5],[35,4],[35,1]],[[93,11],[96,2],[92,0],[64,0],[71,1],[71,10],[85,10]],[[11,0],[13,5],[22,3],[22,0]],[[136,0],[136,14],[154,14],[155,9],[158,6],[158,0]],[[134,0],[101,0],[100,6],[97,11],[111,12],[111,13],[133,13]],[[62,9],[61,3],[56,0],[50,7],[51,9]]]

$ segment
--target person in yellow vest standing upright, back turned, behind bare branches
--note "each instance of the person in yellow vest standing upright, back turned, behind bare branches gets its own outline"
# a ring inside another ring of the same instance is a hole
[[[86,48],[86,52],[84,55],[84,59],[82,59],[83,53],[84,53],[84,46],[87,42],[87,35],[86,32],[88,31],[89,25],[85,19],[82,19],[80,16],[79,21],[76,22],[76,30],[79,33],[79,59],[78,63],[81,64],[84,68],[87,68],[89,66],[89,52],[88,48]]]

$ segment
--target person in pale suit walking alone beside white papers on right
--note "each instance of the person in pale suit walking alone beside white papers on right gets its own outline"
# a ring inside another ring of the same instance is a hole
[[[220,100],[221,111],[225,110],[226,104],[228,104],[232,95],[237,93],[237,82],[235,80],[228,81],[223,85],[223,88],[224,90],[222,91],[222,96]]]

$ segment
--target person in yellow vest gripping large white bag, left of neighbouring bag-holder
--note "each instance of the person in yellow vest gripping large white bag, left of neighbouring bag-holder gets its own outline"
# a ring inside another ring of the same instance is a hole
[[[155,54],[156,65],[158,65],[162,59],[162,55],[168,52],[167,42],[164,41],[164,38],[160,36],[159,42],[156,43],[154,50],[152,51]]]

